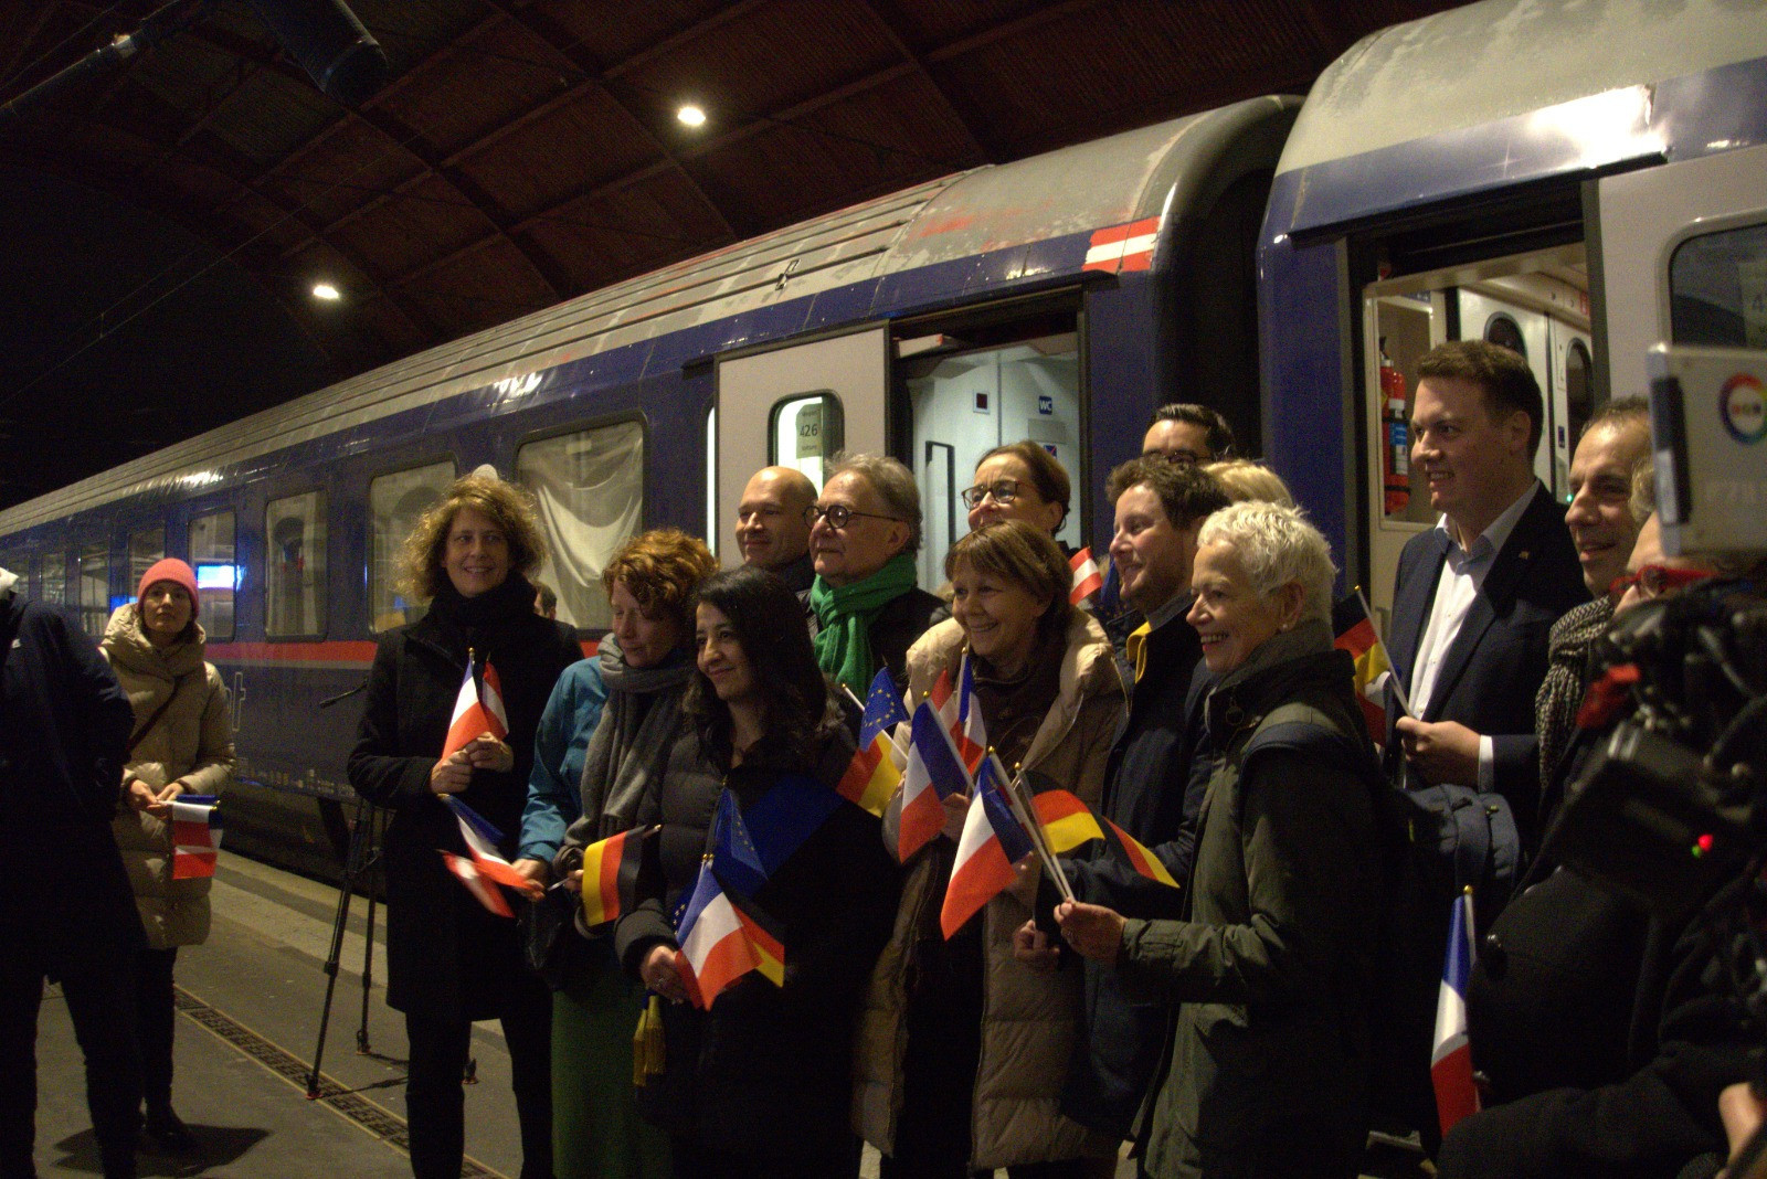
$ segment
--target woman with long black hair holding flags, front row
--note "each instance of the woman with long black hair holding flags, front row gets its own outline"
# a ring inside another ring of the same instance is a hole
[[[700,586],[684,711],[723,782],[707,796],[670,777],[661,808],[716,819],[691,858],[661,844],[663,879],[615,927],[620,962],[666,1001],[638,1100],[682,1179],[859,1174],[853,1017],[896,867],[876,817],[836,792],[853,741],[802,618],[755,567]]]

